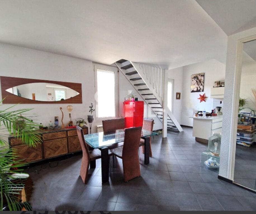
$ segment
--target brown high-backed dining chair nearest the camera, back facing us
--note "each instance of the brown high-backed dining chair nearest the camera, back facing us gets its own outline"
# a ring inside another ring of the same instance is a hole
[[[125,182],[141,175],[138,154],[141,129],[142,127],[125,129],[124,146],[112,150],[115,156],[122,159]]]

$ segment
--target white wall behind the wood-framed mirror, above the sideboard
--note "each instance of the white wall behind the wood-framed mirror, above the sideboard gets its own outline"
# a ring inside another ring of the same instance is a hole
[[[89,105],[94,103],[94,72],[91,61],[0,43],[0,75],[82,83],[82,104],[72,104],[73,122],[79,117],[87,119]],[[13,109],[34,108],[30,111],[37,115],[34,121],[48,126],[54,116],[61,118],[60,107],[63,108],[64,123],[68,122],[67,105],[19,104]],[[11,104],[4,105],[6,108],[8,106]],[[97,123],[93,125],[93,131],[96,131]]]

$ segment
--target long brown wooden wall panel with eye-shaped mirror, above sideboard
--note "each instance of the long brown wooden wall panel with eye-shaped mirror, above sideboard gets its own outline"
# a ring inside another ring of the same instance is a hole
[[[80,83],[0,77],[3,103],[82,103]]]

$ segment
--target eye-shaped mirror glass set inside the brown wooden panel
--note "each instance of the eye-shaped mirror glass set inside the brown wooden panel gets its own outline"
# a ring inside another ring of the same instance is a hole
[[[79,94],[66,86],[46,82],[23,84],[8,88],[6,91],[16,96],[37,101],[60,101]]]

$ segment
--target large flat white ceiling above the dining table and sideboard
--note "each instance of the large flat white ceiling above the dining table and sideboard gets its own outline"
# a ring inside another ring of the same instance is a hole
[[[0,0],[0,42],[171,69],[224,63],[227,36],[195,0]]]

